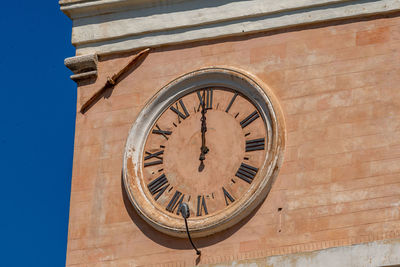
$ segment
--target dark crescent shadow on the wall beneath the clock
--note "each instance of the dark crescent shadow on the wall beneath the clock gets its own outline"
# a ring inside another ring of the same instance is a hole
[[[136,209],[131,204],[129,197],[126,193],[122,172],[121,172],[121,191],[125,208],[129,216],[131,217],[132,222],[142,231],[143,234],[145,234],[152,241],[164,247],[168,247],[171,249],[188,249],[188,250],[193,249],[192,246],[190,245],[188,238],[178,238],[161,233],[156,229],[154,229],[152,226],[150,226],[145,220],[143,220],[140,217]],[[238,231],[241,227],[243,227],[257,213],[262,203],[263,201],[246,218],[244,218],[242,221],[235,224],[234,226],[230,227],[229,229],[226,229],[222,232],[216,233],[211,236],[194,238],[196,246],[198,248],[203,248],[210,245],[214,245],[218,242],[227,239],[228,237],[233,235],[236,231]]]

